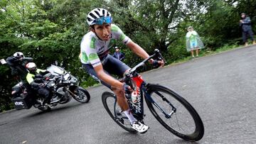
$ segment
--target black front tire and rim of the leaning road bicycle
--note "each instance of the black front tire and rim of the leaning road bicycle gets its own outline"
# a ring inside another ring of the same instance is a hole
[[[201,138],[203,138],[203,134],[204,134],[203,121],[201,120],[200,116],[198,115],[196,110],[193,108],[193,106],[191,106],[191,104],[189,104],[188,101],[186,101],[186,99],[183,99],[183,97],[181,97],[179,94],[177,94],[173,90],[163,87],[159,84],[149,84],[149,87],[147,87],[147,92],[150,95],[151,99],[153,99],[154,101],[157,101],[158,98],[161,97],[159,95],[161,93],[171,96],[172,101],[170,100],[170,98],[168,100],[171,102],[171,104],[174,104],[175,100],[178,101],[178,102],[176,102],[177,104],[176,104],[176,112],[174,113],[175,115],[173,115],[171,117],[171,120],[173,120],[173,119],[175,120],[175,118],[173,118],[173,117],[176,116],[177,122],[170,121],[170,123],[172,123],[171,125],[176,124],[179,126],[177,113],[178,113],[178,117],[179,116],[182,116],[183,118],[188,117],[188,115],[184,115],[184,116],[179,115],[179,112],[183,110],[182,107],[184,107],[185,111],[182,111],[182,112],[187,111],[191,115],[191,120],[193,119],[192,121],[194,122],[194,126],[195,126],[195,128],[193,128],[194,130],[192,131],[192,133],[181,133],[180,131],[184,131],[183,128],[178,128],[179,131],[177,131],[176,129],[172,128],[171,126],[169,126],[169,124],[166,123],[166,121],[164,119],[166,117],[161,118],[161,116],[165,116],[165,115],[163,113],[161,113],[160,110],[159,110],[160,113],[156,112],[156,110],[158,111],[158,109],[156,106],[154,106],[154,104],[151,103],[151,101],[149,101],[150,98],[145,99],[147,106],[149,106],[149,110],[154,115],[154,117],[157,119],[157,121],[159,121],[159,123],[161,123],[161,125],[164,126],[164,128],[166,128],[168,131],[170,131],[174,135],[178,136],[179,138],[182,138],[183,140],[198,141],[198,140],[201,140]],[[156,92],[158,92],[158,94],[156,94]],[[154,94],[154,96],[152,96],[152,94]],[[161,97],[161,99],[159,101],[165,101],[165,100]],[[178,104],[180,104],[181,106],[178,106]],[[166,107],[170,108],[171,106],[166,102]],[[167,109],[169,109],[169,108],[167,108]],[[181,119],[183,124],[185,124],[183,121],[188,122],[187,120],[184,120],[184,119]],[[188,125],[185,125],[185,126],[188,126]],[[191,127],[193,127],[193,126],[191,126]]]

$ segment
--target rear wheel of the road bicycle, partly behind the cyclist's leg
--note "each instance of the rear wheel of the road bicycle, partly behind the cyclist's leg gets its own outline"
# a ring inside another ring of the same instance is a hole
[[[116,96],[113,93],[104,92],[102,94],[102,103],[114,122],[124,128],[124,130],[129,131],[129,133],[137,133],[137,131],[131,127],[127,116],[125,116],[118,106]]]

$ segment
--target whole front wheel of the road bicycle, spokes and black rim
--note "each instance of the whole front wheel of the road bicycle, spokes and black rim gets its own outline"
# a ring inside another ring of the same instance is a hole
[[[151,103],[150,98],[145,99],[146,104],[164,128],[184,140],[203,138],[203,121],[186,99],[158,84],[150,84],[147,92],[157,106]]]

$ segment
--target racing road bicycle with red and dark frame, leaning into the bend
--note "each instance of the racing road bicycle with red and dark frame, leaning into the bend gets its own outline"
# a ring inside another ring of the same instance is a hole
[[[128,84],[134,92],[137,92],[137,102],[132,101],[131,94],[125,94],[132,114],[138,121],[144,123],[144,100],[154,117],[161,123],[164,128],[183,140],[197,141],[203,138],[204,127],[203,121],[182,96],[173,89],[161,86],[159,84],[149,84],[144,82],[142,77],[136,72],[138,67],[144,65],[151,58],[164,60],[159,50],[133,67],[129,72],[124,74],[122,82]],[[164,62],[166,62],[164,60]],[[110,114],[111,118],[124,130],[129,133],[137,133],[130,123],[129,119],[117,104],[117,96],[112,92],[102,94],[102,103]]]

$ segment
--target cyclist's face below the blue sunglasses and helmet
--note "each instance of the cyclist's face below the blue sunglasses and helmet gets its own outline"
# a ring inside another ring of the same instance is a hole
[[[103,23],[103,25],[95,25],[93,32],[104,41],[110,40],[111,23]]]

